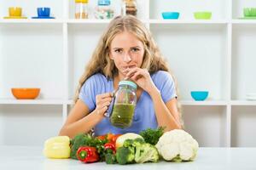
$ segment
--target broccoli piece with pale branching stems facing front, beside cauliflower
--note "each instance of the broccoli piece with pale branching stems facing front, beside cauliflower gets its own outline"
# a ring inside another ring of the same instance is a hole
[[[137,145],[135,153],[135,161],[137,163],[143,163],[146,161],[156,162],[158,160],[159,154],[154,145],[148,143]]]

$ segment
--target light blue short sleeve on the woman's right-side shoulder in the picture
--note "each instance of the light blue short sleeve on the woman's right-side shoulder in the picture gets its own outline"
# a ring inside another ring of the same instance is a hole
[[[165,103],[170,99],[177,98],[175,83],[169,72],[158,71],[155,75],[154,83],[159,88],[161,97]]]

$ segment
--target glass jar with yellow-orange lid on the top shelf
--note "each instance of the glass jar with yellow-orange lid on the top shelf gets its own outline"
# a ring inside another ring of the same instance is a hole
[[[75,0],[75,19],[88,19],[88,0]]]

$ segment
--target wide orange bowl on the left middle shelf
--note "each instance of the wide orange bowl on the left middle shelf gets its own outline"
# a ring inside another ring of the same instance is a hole
[[[36,99],[40,88],[12,88],[12,94],[16,99]]]

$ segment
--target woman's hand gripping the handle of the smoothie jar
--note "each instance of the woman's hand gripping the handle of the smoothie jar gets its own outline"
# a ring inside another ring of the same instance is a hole
[[[112,94],[107,93],[107,94],[98,94],[96,95],[96,113],[99,115],[104,116],[106,111],[108,111],[108,106],[111,103],[112,100]]]

